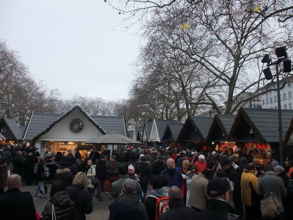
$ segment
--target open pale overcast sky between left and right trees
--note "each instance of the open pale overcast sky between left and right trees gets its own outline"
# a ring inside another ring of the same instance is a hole
[[[140,37],[103,0],[0,0],[0,38],[63,99],[127,96]],[[113,30],[113,31],[112,31]]]

